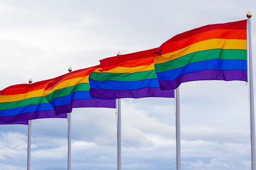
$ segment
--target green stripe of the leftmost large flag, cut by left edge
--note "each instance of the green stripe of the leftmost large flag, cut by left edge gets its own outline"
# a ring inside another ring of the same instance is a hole
[[[0,110],[14,109],[22,106],[30,106],[42,103],[49,103],[44,96],[19,100],[16,102],[4,102],[0,103]]]

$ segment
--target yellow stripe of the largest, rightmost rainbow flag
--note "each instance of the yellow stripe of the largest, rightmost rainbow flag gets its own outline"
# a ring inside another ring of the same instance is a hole
[[[200,41],[174,51],[172,53],[166,53],[161,56],[154,57],[154,64],[165,63],[167,61],[177,59],[184,55],[188,55],[197,51],[204,51],[209,49],[242,49],[246,50],[246,40],[242,39],[208,39],[206,41]]]

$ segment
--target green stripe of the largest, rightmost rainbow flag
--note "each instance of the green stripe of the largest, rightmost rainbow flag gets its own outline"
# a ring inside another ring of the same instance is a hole
[[[180,68],[190,63],[207,61],[211,59],[246,60],[246,54],[246,50],[239,49],[211,49],[205,51],[198,51],[195,53],[184,55],[171,61],[167,61],[165,63],[155,64],[155,69],[156,72],[163,72],[166,70]]]

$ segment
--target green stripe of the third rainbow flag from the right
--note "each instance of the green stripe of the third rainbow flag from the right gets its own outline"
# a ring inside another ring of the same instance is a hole
[[[55,98],[68,96],[76,91],[89,91],[89,90],[90,90],[89,83],[80,83],[80,84],[76,84],[75,86],[54,90],[52,93],[46,95],[46,99],[48,101],[51,101],[52,99],[55,99]]]

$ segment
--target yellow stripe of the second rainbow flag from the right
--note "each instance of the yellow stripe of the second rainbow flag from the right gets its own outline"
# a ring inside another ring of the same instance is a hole
[[[142,71],[149,71],[149,70],[154,70],[154,63],[147,65],[147,66],[136,66],[136,67],[122,67],[118,66],[116,68],[113,68],[108,71],[104,72],[110,72],[110,73],[134,73],[134,72],[142,72]],[[94,72],[102,72],[99,71],[101,69],[94,70]]]

